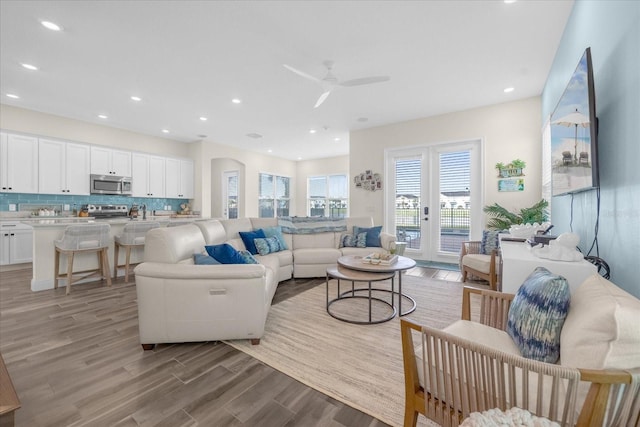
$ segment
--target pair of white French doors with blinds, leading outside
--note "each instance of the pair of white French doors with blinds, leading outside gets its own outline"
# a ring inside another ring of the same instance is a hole
[[[457,262],[461,243],[482,227],[481,141],[385,151],[385,228],[405,255]]]

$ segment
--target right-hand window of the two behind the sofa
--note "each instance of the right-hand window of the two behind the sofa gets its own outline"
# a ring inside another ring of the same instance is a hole
[[[314,176],[307,181],[307,215],[346,218],[349,206],[347,175]]]

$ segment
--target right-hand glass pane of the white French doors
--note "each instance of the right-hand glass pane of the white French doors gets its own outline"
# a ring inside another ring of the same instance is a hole
[[[442,252],[459,253],[469,240],[471,214],[471,153],[440,153],[440,246]]]

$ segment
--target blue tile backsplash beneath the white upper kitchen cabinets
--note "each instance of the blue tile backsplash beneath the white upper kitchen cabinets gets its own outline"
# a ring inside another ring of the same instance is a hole
[[[164,210],[165,206],[171,206],[170,210],[179,211],[181,203],[188,203],[188,199],[154,199],[142,197],[124,197],[124,196],[63,196],[58,194],[27,194],[27,193],[0,193],[0,212],[7,212],[9,204],[30,204],[30,205],[70,205],[73,209],[75,204],[78,209],[82,205],[87,204],[112,204],[127,205],[131,207],[133,204],[138,206],[147,205],[147,212],[153,210]]]

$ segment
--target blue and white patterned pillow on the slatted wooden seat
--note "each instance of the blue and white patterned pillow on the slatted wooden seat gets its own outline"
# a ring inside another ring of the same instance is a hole
[[[560,358],[560,332],[569,312],[571,294],[567,280],[538,267],[513,298],[507,333],[522,356],[556,363]]]

